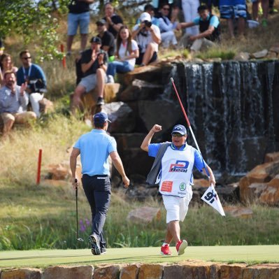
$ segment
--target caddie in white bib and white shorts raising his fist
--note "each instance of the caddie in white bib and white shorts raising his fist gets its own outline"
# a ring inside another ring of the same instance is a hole
[[[192,169],[196,166],[205,174],[207,169],[210,184],[215,185],[215,177],[199,151],[187,145],[187,130],[183,125],[173,127],[171,142],[151,143],[152,137],[159,131],[162,131],[162,126],[155,124],[141,143],[141,149],[148,152],[150,157],[155,157],[147,182],[153,185],[159,183],[159,192],[166,208],[167,229],[161,254],[171,255],[169,245],[174,241],[178,255],[183,255],[187,241],[180,238],[179,221],[185,219],[192,199]]]

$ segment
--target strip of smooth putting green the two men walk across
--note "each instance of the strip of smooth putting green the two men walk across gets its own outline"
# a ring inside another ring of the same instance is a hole
[[[171,247],[173,256],[159,255],[159,247],[113,248],[106,255],[93,256],[89,249],[82,250],[28,250],[0,252],[0,267],[45,267],[61,264],[122,264],[181,262],[187,259],[202,259],[213,262],[279,262],[279,245],[251,246],[195,246],[188,247],[178,256]]]

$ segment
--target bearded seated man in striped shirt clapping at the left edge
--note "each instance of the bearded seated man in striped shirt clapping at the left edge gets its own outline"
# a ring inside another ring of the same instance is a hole
[[[0,113],[4,124],[3,137],[6,137],[14,123],[24,124],[31,119],[36,119],[36,114],[33,111],[26,111],[27,83],[18,86],[13,71],[6,71],[4,79],[5,86],[0,90]]]

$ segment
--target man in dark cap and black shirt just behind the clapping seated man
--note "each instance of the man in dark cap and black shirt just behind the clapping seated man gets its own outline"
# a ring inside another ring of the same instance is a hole
[[[101,49],[108,52],[108,61],[113,61],[115,52],[115,39],[106,29],[106,20],[98,20],[96,22],[98,35],[101,38]]]

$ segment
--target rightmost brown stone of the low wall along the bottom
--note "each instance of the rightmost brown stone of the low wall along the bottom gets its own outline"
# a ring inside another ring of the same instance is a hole
[[[257,264],[255,266],[247,266],[243,270],[242,279],[278,279],[279,264]]]

